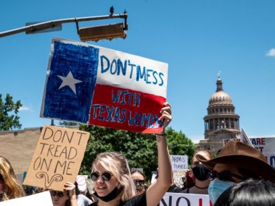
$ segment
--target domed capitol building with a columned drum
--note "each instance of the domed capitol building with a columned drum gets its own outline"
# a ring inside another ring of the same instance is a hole
[[[221,78],[217,79],[217,90],[209,99],[207,115],[204,120],[204,139],[197,144],[199,150],[217,153],[223,148],[223,139],[239,138],[239,115],[230,95],[223,91]]]

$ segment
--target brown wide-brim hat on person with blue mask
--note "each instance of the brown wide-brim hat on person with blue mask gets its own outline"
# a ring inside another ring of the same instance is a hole
[[[240,141],[229,141],[214,159],[207,160],[202,155],[196,155],[196,158],[211,171],[214,165],[223,163],[243,168],[263,179],[275,180],[275,170],[267,163],[265,155]]]

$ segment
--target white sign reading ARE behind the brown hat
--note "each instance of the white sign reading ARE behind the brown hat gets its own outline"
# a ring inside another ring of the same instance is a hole
[[[250,138],[254,148],[265,155],[267,163],[275,169],[275,137]]]

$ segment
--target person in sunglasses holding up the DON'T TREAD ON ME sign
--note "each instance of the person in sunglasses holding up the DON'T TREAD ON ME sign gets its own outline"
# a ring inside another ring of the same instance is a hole
[[[76,199],[76,185],[74,183],[65,183],[64,191],[50,190],[52,203],[54,206],[78,206]]]

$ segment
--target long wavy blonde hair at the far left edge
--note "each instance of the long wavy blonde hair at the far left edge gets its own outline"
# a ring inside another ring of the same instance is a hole
[[[23,187],[17,181],[12,165],[0,156],[0,174],[3,176],[4,191],[3,201],[7,201],[12,198],[19,198],[25,196]]]

